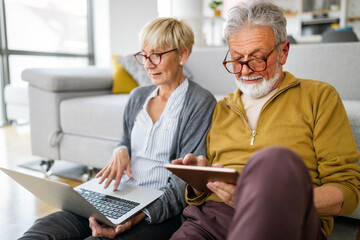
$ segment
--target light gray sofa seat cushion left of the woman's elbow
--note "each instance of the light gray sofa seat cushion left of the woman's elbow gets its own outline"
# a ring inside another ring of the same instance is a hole
[[[128,94],[63,100],[60,126],[64,134],[119,140]]]

